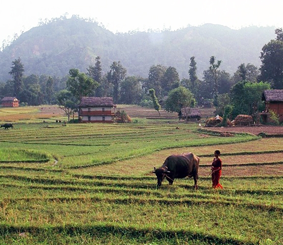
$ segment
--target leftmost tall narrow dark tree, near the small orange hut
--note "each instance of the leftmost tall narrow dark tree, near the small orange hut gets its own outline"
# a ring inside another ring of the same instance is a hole
[[[13,77],[14,96],[19,97],[23,89],[23,76],[25,72],[24,65],[20,57],[12,62],[11,69],[12,70],[9,74]]]

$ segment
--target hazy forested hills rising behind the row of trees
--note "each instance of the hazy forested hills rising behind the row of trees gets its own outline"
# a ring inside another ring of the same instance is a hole
[[[121,61],[128,75],[148,77],[152,65],[173,66],[180,78],[188,77],[195,56],[202,78],[209,57],[222,60],[221,70],[234,73],[241,63],[260,66],[264,44],[276,37],[275,27],[233,30],[222,25],[189,26],[176,31],[114,34],[95,22],[78,17],[55,19],[34,27],[0,52],[0,81],[11,79],[12,61],[21,58],[25,74],[65,76],[71,68],[86,72],[101,57],[103,72]]]

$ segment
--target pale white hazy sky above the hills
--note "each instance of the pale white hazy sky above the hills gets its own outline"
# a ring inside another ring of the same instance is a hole
[[[233,29],[250,25],[283,27],[283,0],[4,0],[0,44],[45,20],[79,15],[114,33],[206,23]]]

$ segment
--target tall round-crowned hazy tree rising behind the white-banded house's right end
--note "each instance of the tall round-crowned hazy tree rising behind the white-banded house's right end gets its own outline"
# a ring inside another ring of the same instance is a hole
[[[120,61],[114,61],[110,66],[110,71],[107,73],[107,79],[113,84],[113,101],[117,103],[120,96],[121,81],[126,77],[127,70]]]

